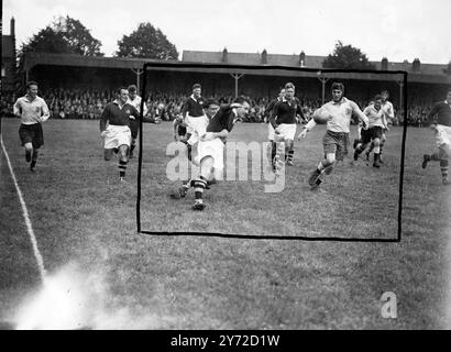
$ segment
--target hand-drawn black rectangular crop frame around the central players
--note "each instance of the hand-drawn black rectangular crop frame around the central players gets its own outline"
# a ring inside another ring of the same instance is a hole
[[[400,155],[400,172],[399,172],[399,197],[398,197],[398,231],[394,239],[363,239],[363,238],[341,238],[341,237],[287,237],[287,235],[256,235],[256,234],[231,234],[231,233],[209,233],[209,232],[154,232],[141,229],[141,172],[142,172],[142,153],[143,153],[143,107],[144,96],[146,89],[146,72],[147,68],[228,68],[228,69],[245,69],[245,70],[264,70],[278,69],[288,72],[310,72],[317,73],[358,73],[358,74],[374,74],[374,75],[403,75],[403,108],[404,108],[404,123],[403,123],[403,140],[402,140],[402,155]],[[403,217],[403,183],[404,183],[404,160],[407,134],[407,72],[405,70],[372,70],[372,69],[333,69],[333,68],[305,68],[294,66],[256,66],[256,65],[232,65],[232,64],[197,64],[197,63],[180,63],[180,62],[148,62],[143,65],[144,77],[141,88],[141,114],[140,114],[140,150],[138,162],[138,190],[136,190],[136,230],[138,233],[151,235],[166,235],[166,237],[215,237],[227,239],[242,239],[242,240],[288,240],[288,241],[333,241],[333,242],[380,242],[380,243],[396,243],[402,240],[402,217]]]

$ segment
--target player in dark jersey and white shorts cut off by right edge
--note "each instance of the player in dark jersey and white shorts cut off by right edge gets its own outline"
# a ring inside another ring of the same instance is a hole
[[[447,99],[433,106],[428,114],[428,119],[435,118],[431,128],[436,132],[436,144],[438,152],[425,154],[422,156],[422,168],[428,166],[430,161],[440,162],[441,177],[443,185],[450,185],[448,179],[449,158],[451,156],[451,88],[448,89]]]

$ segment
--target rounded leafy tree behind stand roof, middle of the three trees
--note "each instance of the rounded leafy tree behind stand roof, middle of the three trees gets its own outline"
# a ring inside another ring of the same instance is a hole
[[[140,23],[138,30],[130,35],[124,35],[118,42],[119,57],[146,57],[160,59],[177,59],[178,53],[166,35],[151,23]]]

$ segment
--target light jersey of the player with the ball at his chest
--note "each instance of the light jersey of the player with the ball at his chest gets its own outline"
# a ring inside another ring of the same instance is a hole
[[[322,112],[328,112],[331,119],[327,123],[327,129],[331,132],[349,133],[351,117],[355,113],[361,120],[367,122],[367,118],[360,110],[359,106],[346,98],[342,98],[339,102],[329,101],[321,107]]]

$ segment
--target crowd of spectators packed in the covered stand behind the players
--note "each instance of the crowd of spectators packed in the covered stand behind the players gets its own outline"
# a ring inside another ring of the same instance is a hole
[[[114,97],[112,90],[103,89],[51,89],[41,91],[40,95],[45,99],[51,110],[53,119],[99,119],[106,105]],[[2,116],[12,116],[12,106],[18,98],[14,94],[1,95],[1,113]],[[172,121],[182,110],[182,106],[187,98],[186,95],[174,95],[164,92],[153,92],[146,99],[148,113],[147,121],[155,120]],[[228,103],[233,100],[233,96],[215,96],[220,103]],[[274,97],[250,98],[250,113],[243,122],[265,122],[265,107]],[[312,96],[298,96],[301,102],[301,109],[305,118],[310,119],[315,109],[321,106],[321,99]],[[367,101],[355,99],[355,102],[363,109]],[[428,112],[432,108],[430,103],[409,103],[408,124],[415,127],[427,127]],[[396,109],[396,116],[393,121],[394,125],[399,125],[404,121],[403,111]],[[299,121],[300,122],[300,121]]]

